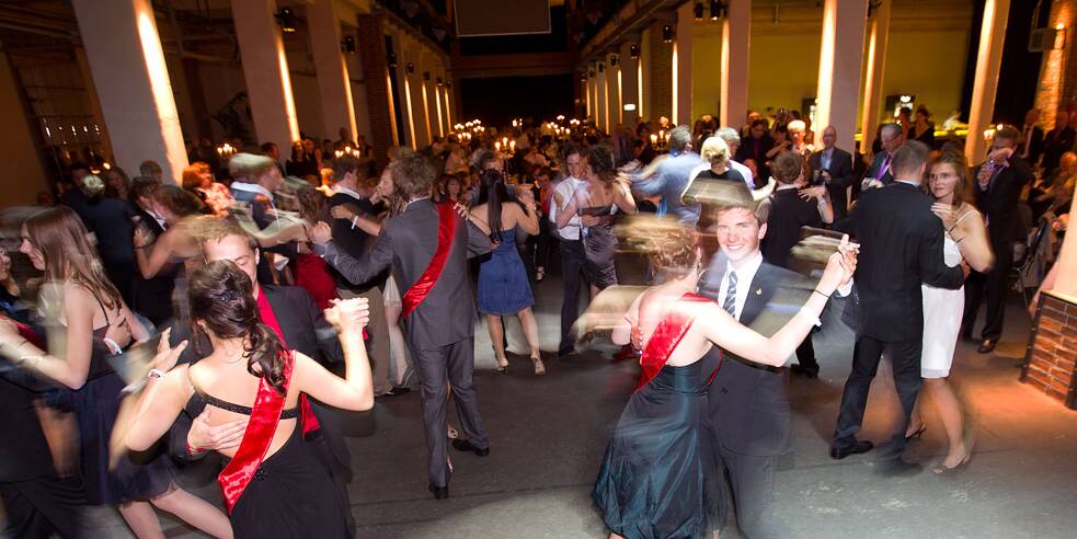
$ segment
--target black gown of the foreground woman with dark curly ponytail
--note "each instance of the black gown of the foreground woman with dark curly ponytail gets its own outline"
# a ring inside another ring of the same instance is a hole
[[[196,392],[187,401],[185,413],[197,417],[206,401]],[[216,401],[214,405],[244,413],[242,406],[229,408],[236,406],[231,403]],[[250,409],[245,413],[250,414]],[[298,409],[291,409],[282,418],[296,416]],[[288,441],[259,466],[230,517],[237,539],[346,538],[347,511],[325,465],[318,458],[316,443],[303,438],[302,426],[297,422]]]

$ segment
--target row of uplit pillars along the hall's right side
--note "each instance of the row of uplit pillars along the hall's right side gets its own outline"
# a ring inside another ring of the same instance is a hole
[[[833,125],[838,133],[837,145],[853,148],[857,114],[863,103],[859,125],[861,148],[874,141],[880,121],[882,80],[893,0],[872,7],[869,19],[868,0],[825,0],[823,30],[816,85],[815,129]],[[604,69],[598,72],[588,66],[586,77],[586,113],[599,128],[610,131],[617,124],[631,124],[639,118],[657,119],[668,115],[675,124],[691,124],[691,55],[692,8],[685,2],[669,21],[658,20],[644,30],[638,41],[626,41],[617,50],[618,62],[603,57]],[[1002,41],[1009,0],[986,0],[981,27],[979,49],[970,110],[969,137],[965,153],[970,161],[982,159],[985,148],[983,131],[992,123],[995,90],[1002,58]],[[722,22],[721,95],[719,121],[725,126],[740,126],[748,110],[748,58],[752,32],[752,0],[727,0]],[[674,31],[672,56],[653,58],[654,37],[669,26]],[[638,53],[630,54],[631,50]],[[863,64],[863,56],[867,62]],[[635,56],[633,58],[633,56]],[[927,60],[930,61],[930,60]],[[864,65],[866,77],[861,71]],[[666,69],[672,68],[669,71]],[[671,72],[672,71],[672,72]],[[668,81],[664,80],[668,77]],[[864,80],[861,88],[861,79]],[[648,93],[644,88],[651,89]],[[671,88],[668,98],[664,88]],[[857,99],[850,99],[856,96]],[[664,102],[665,99],[671,100]],[[635,111],[625,111],[632,104]]]

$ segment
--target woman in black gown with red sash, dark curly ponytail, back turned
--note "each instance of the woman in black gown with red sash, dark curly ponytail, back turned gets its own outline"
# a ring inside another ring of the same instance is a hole
[[[150,371],[124,444],[134,450],[153,445],[184,410],[197,416],[213,406],[215,425],[251,417],[239,447],[219,451],[238,459],[240,472],[247,470],[237,480],[229,461],[218,478],[236,537],[345,537],[350,508],[302,437],[312,424],[306,423],[310,416],[301,397],[344,410],[374,405],[363,343],[367,299],[339,301],[325,310],[344,349],[346,378],[340,378],[310,357],[284,349],[275,331],[259,319],[251,279],[231,261],[198,268],[187,297],[194,331],[209,340],[213,353],[173,368],[187,342],[170,348],[168,333],[162,336],[153,358],[160,370]]]

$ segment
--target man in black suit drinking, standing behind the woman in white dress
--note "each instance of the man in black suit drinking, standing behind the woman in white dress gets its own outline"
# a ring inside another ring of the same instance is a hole
[[[972,337],[979,303],[987,296],[987,320],[977,349],[988,354],[998,345],[1006,319],[1006,291],[1013,265],[1013,242],[1024,237],[1024,226],[1017,205],[1021,190],[1032,182],[1032,169],[1015,152],[1020,133],[1013,126],[1004,126],[995,133],[987,162],[975,169],[973,191],[976,207],[987,220],[987,236],[995,252],[995,265],[986,274],[974,272],[965,287],[965,313],[961,321],[962,334]],[[1006,156],[1009,154],[1007,158]]]

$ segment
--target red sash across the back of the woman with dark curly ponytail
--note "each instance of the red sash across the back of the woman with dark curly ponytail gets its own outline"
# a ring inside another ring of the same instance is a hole
[[[284,367],[284,389],[288,391],[288,383],[291,381],[291,366],[295,364],[294,357],[289,354],[288,362]],[[280,411],[284,409],[285,395],[277,392],[270,381],[265,378],[259,382],[259,394],[251,409],[251,420],[247,423],[247,431],[243,432],[243,441],[239,444],[236,456],[217,475],[220,490],[225,494],[225,506],[228,513],[232,513],[232,507],[239,502],[247,485],[254,478],[254,472],[262,466],[270,444],[273,441],[273,433],[277,429],[277,422],[280,421]]]

